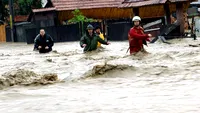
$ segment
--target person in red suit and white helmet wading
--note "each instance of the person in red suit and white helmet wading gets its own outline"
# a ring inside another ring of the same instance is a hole
[[[152,35],[144,33],[144,29],[140,26],[141,18],[139,16],[134,16],[132,21],[134,22],[134,26],[128,33],[130,54],[136,54],[137,52],[147,53],[143,44],[147,45],[146,41],[150,41],[149,38]]]

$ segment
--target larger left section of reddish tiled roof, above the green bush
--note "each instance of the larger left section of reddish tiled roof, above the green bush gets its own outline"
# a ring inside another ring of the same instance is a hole
[[[51,0],[58,11],[118,7],[124,0]]]

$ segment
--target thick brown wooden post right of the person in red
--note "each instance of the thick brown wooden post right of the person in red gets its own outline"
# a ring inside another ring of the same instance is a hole
[[[183,3],[176,4],[177,22],[180,25],[180,33],[184,34],[184,16],[183,16]]]

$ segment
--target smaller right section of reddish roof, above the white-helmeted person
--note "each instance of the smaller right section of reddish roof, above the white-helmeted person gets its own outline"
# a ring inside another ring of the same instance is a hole
[[[175,3],[175,2],[185,2],[191,0],[127,0],[119,5],[120,8],[128,8],[128,7],[141,7],[141,6],[148,6],[148,5],[157,5],[157,4],[164,4],[167,1]]]

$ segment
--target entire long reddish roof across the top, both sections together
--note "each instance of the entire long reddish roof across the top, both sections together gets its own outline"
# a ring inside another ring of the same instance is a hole
[[[167,0],[51,0],[53,8],[33,9],[33,12],[66,11],[75,9],[94,8],[130,8],[156,4],[164,4]],[[183,2],[195,0],[169,0],[170,2]]]

